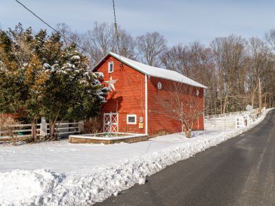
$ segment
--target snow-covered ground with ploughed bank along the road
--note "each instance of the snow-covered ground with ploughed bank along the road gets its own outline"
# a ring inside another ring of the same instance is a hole
[[[249,128],[197,131],[190,139],[177,133],[135,144],[58,141],[0,145],[0,205],[89,205],[103,201]]]

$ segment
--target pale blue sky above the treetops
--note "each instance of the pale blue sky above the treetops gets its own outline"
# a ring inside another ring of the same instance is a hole
[[[50,25],[67,23],[72,30],[85,32],[95,21],[113,23],[111,0],[21,0]],[[275,1],[115,1],[118,24],[133,36],[159,32],[168,45],[200,41],[208,45],[215,37],[238,34],[263,38],[275,28]],[[14,0],[0,0],[2,29],[47,26]],[[50,30],[50,28],[48,29]]]

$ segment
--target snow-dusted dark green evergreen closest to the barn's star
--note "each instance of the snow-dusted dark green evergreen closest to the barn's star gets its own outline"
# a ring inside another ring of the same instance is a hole
[[[75,47],[62,49],[54,65],[43,65],[47,80],[41,101],[43,113],[50,121],[50,138],[56,139],[57,119],[83,119],[98,113],[109,91],[102,88],[102,74],[89,71],[87,57]]]

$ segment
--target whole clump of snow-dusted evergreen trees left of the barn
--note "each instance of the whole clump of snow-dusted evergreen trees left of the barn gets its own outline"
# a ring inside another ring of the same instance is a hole
[[[50,139],[56,139],[56,122],[98,114],[109,91],[93,73],[89,60],[74,45],[65,47],[61,36],[33,35],[21,24],[0,31],[0,112],[24,112],[32,121],[36,141],[39,117],[50,121]]]

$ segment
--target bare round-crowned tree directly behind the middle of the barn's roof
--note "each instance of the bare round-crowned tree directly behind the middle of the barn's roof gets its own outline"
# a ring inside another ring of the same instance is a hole
[[[147,65],[159,67],[161,56],[166,51],[166,39],[158,32],[137,36],[137,53],[139,59]]]

